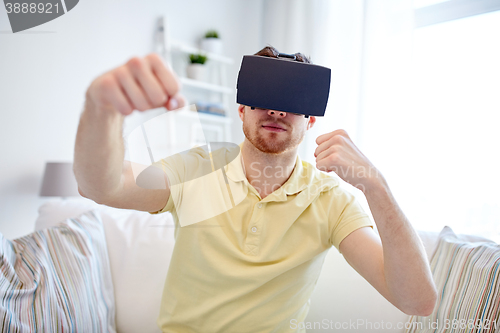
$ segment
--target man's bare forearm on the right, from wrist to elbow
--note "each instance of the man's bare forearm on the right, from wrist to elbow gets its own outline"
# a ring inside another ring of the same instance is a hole
[[[387,288],[400,309],[430,314],[436,289],[420,238],[383,177],[378,177],[365,195],[382,240]]]

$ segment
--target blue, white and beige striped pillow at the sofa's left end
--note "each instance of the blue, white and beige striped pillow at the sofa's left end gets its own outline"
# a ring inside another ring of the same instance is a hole
[[[0,234],[2,332],[115,332],[99,214],[9,241]]]

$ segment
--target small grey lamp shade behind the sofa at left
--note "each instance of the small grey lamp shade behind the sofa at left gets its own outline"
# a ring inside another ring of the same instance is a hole
[[[75,197],[80,196],[73,173],[73,163],[47,162],[43,174],[42,197]]]

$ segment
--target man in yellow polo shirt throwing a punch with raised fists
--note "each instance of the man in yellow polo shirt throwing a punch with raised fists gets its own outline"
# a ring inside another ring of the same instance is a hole
[[[257,55],[278,53],[268,47]],[[317,138],[315,167],[301,161],[298,145],[314,125],[313,116],[240,105],[245,140],[226,175],[243,196],[221,214],[180,227],[176,205],[192,205],[192,211],[202,203],[170,186],[139,187],[124,161],[122,139],[125,116],[134,109],[181,107],[179,91],[175,74],[156,55],[131,59],[98,77],[86,94],[74,161],[83,196],[117,208],[172,211],[176,245],[158,320],[164,332],[293,332],[291,323],[307,315],[332,245],[401,311],[432,312],[437,296],[420,239],[347,133]],[[353,196],[317,170],[351,168],[356,172],[338,175],[364,192],[380,237]],[[167,175],[174,178],[179,170],[170,166]]]

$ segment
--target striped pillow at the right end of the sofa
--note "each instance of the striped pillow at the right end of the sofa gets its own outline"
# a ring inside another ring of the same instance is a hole
[[[406,332],[500,332],[500,245],[464,242],[445,227],[431,269],[436,307],[410,317]]]

